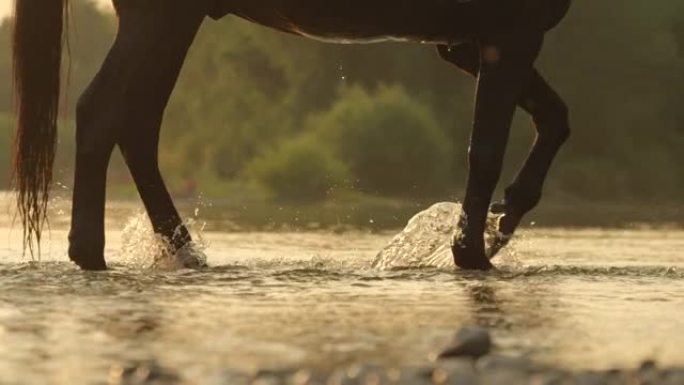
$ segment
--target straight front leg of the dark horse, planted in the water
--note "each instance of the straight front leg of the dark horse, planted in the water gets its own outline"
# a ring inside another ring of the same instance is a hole
[[[542,35],[511,34],[479,42],[475,118],[468,153],[468,182],[452,251],[457,266],[486,270],[487,212],[501,175],[510,126],[516,105],[533,74]]]

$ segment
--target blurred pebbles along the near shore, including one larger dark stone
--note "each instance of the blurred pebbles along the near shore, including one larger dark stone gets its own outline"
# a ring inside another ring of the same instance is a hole
[[[684,385],[684,369],[661,369],[644,361],[633,370],[570,371],[535,364],[525,357],[489,354],[492,338],[486,329],[466,327],[454,344],[439,355],[449,358],[422,367],[387,368],[350,365],[333,371],[317,369],[259,370],[222,373],[217,384],[230,385]],[[172,370],[155,362],[112,367],[110,385],[180,385]]]

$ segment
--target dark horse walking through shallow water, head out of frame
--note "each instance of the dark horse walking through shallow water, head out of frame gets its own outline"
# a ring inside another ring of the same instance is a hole
[[[568,139],[568,107],[535,68],[544,35],[570,0],[113,0],[119,26],[102,67],[76,106],[76,169],[69,258],[105,270],[106,170],[118,146],[152,222],[171,251],[191,242],[158,166],[162,117],[205,18],[232,15],[332,43],[431,44],[446,62],[477,77],[463,212],[454,263],[488,270],[490,258],[540,202],[549,168]],[[40,253],[56,151],[67,0],[16,0],[13,84],[14,189],[24,252]],[[533,118],[529,157],[501,202],[492,204],[514,111]],[[485,246],[488,213],[497,237]]]

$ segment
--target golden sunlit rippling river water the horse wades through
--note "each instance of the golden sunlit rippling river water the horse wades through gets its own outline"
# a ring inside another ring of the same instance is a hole
[[[134,216],[126,231],[109,225],[113,269],[83,273],[65,262],[64,230],[28,263],[3,218],[0,383],[106,383],[110,368],[141,361],[202,384],[257,369],[420,366],[464,325],[556,366],[684,364],[684,231],[526,230],[500,271],[463,273],[444,254],[454,209],[413,222],[382,268],[374,260],[396,232],[205,232],[210,268],[151,270]]]

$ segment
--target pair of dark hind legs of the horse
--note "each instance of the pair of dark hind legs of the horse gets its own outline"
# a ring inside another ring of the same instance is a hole
[[[122,149],[155,232],[180,248],[190,236],[157,164],[162,115],[206,14],[204,2],[120,2],[119,32],[100,72],[79,100],[77,159],[69,257],[106,269],[104,204],[107,164]]]

